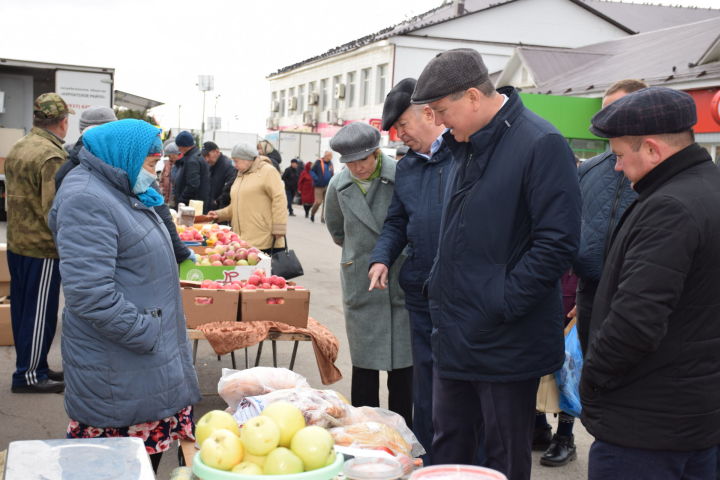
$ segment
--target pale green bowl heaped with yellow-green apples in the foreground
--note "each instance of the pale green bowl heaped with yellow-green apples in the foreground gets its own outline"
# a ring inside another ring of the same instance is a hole
[[[200,451],[193,473],[205,480],[260,475],[327,480],[343,467],[330,432],[306,426],[302,411],[289,402],[268,405],[242,428],[227,412],[208,412],[197,422],[195,437]]]

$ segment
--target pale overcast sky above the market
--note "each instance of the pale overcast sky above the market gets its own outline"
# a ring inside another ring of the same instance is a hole
[[[626,0],[627,1],[627,0]],[[161,101],[161,126],[199,128],[198,75],[213,75],[222,129],[264,133],[280,67],[442,0],[0,0],[0,57],[112,67],[115,88]],[[635,2],[642,3],[642,2]],[[720,0],[653,3],[720,7]],[[178,108],[181,106],[181,108]]]

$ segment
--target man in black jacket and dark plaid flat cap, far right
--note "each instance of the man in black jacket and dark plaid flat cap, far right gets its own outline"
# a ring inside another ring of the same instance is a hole
[[[610,239],[580,394],[589,479],[712,479],[720,444],[720,171],[695,103],[650,87],[597,113],[638,193]]]

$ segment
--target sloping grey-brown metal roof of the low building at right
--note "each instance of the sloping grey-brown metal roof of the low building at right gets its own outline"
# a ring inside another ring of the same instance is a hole
[[[668,86],[720,79],[720,17],[572,50],[519,47],[516,53],[535,81],[528,92],[587,94],[621,78]]]

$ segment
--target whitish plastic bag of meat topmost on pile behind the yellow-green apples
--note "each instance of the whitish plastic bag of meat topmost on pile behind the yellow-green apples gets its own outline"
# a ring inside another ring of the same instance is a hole
[[[227,402],[231,413],[235,412],[238,404],[245,397],[288,388],[310,388],[310,384],[305,377],[292,370],[272,367],[255,367],[247,370],[223,368],[218,382],[218,393]]]

